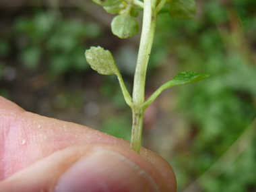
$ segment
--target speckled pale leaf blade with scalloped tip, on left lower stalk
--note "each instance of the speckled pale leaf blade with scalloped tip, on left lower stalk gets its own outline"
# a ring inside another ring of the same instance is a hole
[[[119,75],[119,70],[112,54],[100,46],[91,46],[89,50],[86,50],[86,61],[91,65],[92,69],[102,75]]]

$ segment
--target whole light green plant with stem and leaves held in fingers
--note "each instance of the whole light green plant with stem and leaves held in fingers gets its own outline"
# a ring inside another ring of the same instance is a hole
[[[146,69],[148,59],[156,30],[156,20],[159,13],[169,12],[172,18],[186,20],[195,15],[196,4],[194,0],[92,0],[101,5],[106,12],[119,14],[115,16],[111,23],[113,34],[119,38],[132,37],[139,31],[139,24],[134,17],[139,15],[139,10],[143,11],[143,24],[141,40],[139,43],[139,53],[134,75],[133,95],[127,91],[121,73],[115,64],[115,60],[110,51],[104,50],[100,46],[91,47],[86,50],[86,60],[92,69],[102,75],[117,75],[123,96],[133,113],[133,123],[131,131],[131,149],[139,153],[141,145],[141,131],[143,125],[143,113],[146,108],[157,98],[166,88],[197,82],[208,74],[195,72],[181,72],[174,76],[169,82],[163,84],[148,98],[144,100]]]

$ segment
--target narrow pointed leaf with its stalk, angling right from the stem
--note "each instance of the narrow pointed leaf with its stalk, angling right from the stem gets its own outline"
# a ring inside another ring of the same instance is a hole
[[[209,77],[209,74],[200,74],[195,72],[178,73],[169,82],[160,86],[160,88],[158,88],[158,90],[156,90],[156,92],[154,92],[154,94],[152,94],[152,96],[150,96],[150,98],[143,103],[142,107],[146,109],[166,88],[171,88],[172,86],[179,86],[182,84],[190,84],[192,82],[200,81],[206,77]]]

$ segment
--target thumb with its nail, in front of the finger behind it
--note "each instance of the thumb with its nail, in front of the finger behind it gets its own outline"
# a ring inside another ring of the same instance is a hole
[[[175,191],[150,161],[113,144],[72,146],[0,182],[1,191]],[[168,181],[167,181],[168,182]]]

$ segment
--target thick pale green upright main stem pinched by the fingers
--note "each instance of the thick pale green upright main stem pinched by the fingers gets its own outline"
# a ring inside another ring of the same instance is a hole
[[[141,130],[143,124],[144,109],[141,105],[144,102],[146,71],[148,67],[148,59],[154,40],[154,32],[156,28],[156,11],[152,10],[151,0],[144,1],[143,25],[141,32],[141,40],[139,43],[139,54],[134,75],[133,83],[133,126],[131,131],[131,149],[139,153],[141,144]]]

